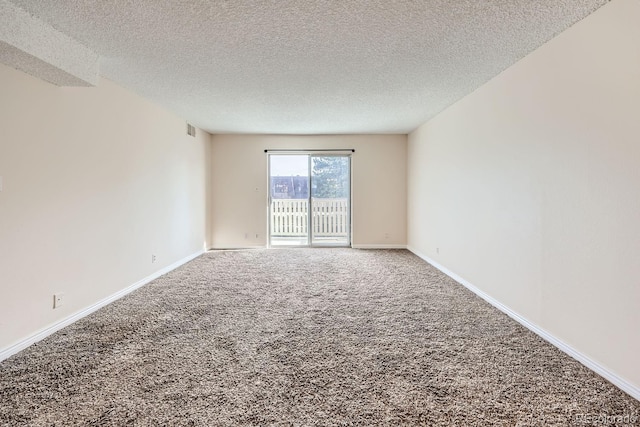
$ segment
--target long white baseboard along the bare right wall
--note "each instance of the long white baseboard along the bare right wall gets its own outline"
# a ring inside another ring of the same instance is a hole
[[[486,302],[488,302],[489,304],[491,304],[492,306],[494,306],[498,310],[500,310],[503,313],[505,313],[507,316],[511,317],[516,322],[520,323],[525,328],[529,329],[530,331],[532,331],[536,335],[540,336],[544,340],[546,340],[549,343],[553,344],[555,347],[557,347],[558,349],[560,349],[564,353],[568,354],[572,358],[576,359],[578,362],[582,363],[584,366],[586,366],[587,368],[591,369],[592,371],[594,371],[598,375],[604,377],[609,382],[614,384],[616,387],[618,387],[622,391],[624,391],[627,394],[629,394],[630,396],[632,396],[634,399],[640,400],[640,388],[638,388],[635,385],[629,383],[624,378],[621,378],[620,376],[614,374],[613,372],[611,372],[610,370],[608,370],[604,366],[600,365],[599,363],[593,361],[589,357],[587,357],[584,354],[580,353],[578,350],[574,349],[570,345],[568,345],[565,342],[561,341],[560,339],[556,338],[555,336],[553,336],[548,331],[546,331],[546,330],[542,329],[541,327],[531,323],[526,318],[524,318],[524,317],[520,316],[518,313],[512,311],[506,305],[502,304],[501,302],[499,302],[498,300],[496,300],[493,297],[489,296],[485,292],[481,291],[480,289],[478,289],[477,287],[475,287],[474,285],[472,285],[471,283],[469,283],[468,281],[466,281],[462,277],[460,277],[457,274],[455,274],[454,272],[450,271],[445,266],[443,266],[443,265],[439,264],[438,262],[432,260],[428,256],[425,256],[425,255],[421,254],[420,252],[416,251],[415,248],[412,248],[411,246],[408,246],[407,249],[409,251],[413,252],[418,257],[420,257],[423,260],[425,260],[426,262],[428,262],[429,264],[431,264],[432,266],[434,266],[435,268],[437,268],[438,270],[440,270],[441,272],[443,272],[444,274],[446,274],[447,276],[451,277],[456,282],[460,283],[465,288],[469,289],[474,294],[478,295],[480,298],[482,298],[483,300],[485,300]]]

